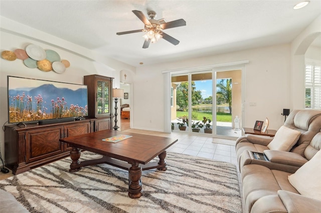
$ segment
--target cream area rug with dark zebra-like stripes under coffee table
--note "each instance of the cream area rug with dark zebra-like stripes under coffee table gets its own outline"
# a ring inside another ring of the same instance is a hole
[[[127,195],[127,170],[99,164],[69,172],[70,157],[4,179],[0,188],[30,212],[242,212],[234,164],[172,152],[166,162],[166,171],[142,171],[137,199]]]

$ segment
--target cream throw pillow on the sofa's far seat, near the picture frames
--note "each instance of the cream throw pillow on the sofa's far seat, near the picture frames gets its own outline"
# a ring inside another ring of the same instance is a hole
[[[282,125],[267,147],[272,150],[289,151],[299,139],[300,134],[301,132]]]

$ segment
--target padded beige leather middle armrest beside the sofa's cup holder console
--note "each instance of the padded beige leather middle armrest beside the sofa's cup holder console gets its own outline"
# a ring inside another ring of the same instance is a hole
[[[294,152],[271,149],[264,150],[263,152],[271,162],[275,163],[301,167],[304,163],[307,162],[307,159],[302,157],[302,155]]]

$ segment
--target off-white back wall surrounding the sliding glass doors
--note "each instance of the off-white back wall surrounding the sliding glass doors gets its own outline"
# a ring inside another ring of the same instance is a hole
[[[140,66],[134,79],[134,128],[164,130],[163,70],[249,60],[245,65],[244,126],[252,127],[256,120],[270,120],[269,128],[278,129],[289,108],[290,45],[276,45],[191,58],[167,64]],[[256,106],[249,106],[256,102]]]

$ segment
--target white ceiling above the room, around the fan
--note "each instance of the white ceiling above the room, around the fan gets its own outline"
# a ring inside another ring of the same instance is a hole
[[[294,10],[300,0],[1,0],[0,14],[139,66],[289,43],[321,14],[321,0],[310,1]],[[143,49],[143,32],[116,35],[144,27],[131,10],[185,19],[186,26],[164,30],[180,43],[161,39]]]

